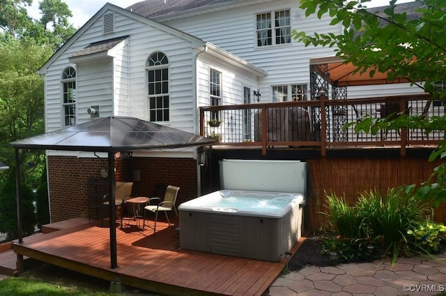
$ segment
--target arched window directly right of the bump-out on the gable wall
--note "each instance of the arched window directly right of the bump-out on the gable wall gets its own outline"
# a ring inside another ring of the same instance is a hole
[[[147,59],[148,116],[150,121],[169,121],[169,60],[162,52]]]

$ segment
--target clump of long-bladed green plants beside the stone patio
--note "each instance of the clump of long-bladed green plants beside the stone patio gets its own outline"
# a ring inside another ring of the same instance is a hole
[[[406,193],[404,187],[390,188],[384,196],[376,189],[362,193],[351,206],[333,193],[326,195],[326,200],[326,214],[336,237],[325,243],[325,251],[336,253],[340,260],[374,258],[379,250],[394,264],[401,249],[420,239],[426,242],[424,246],[438,248],[435,242],[443,228],[426,228],[426,213],[431,208]]]

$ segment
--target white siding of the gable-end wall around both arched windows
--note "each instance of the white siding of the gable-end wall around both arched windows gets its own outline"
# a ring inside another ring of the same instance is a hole
[[[79,118],[78,123],[90,119],[89,114],[86,114],[86,108],[90,105],[100,105],[100,117],[116,115],[148,120],[145,112],[146,59],[152,52],[162,50],[169,56],[170,95],[175,98],[171,102],[169,126],[183,131],[197,132],[192,81],[194,61],[190,41],[119,13],[114,14],[114,21],[114,34],[104,37],[102,17],[98,19],[47,68],[45,79],[47,131],[61,128],[61,72],[66,66],[72,65],[68,57],[104,38],[129,36],[125,43],[118,45],[115,52],[112,52],[114,57],[110,57],[109,60],[79,64],[78,75],[86,76],[79,78],[82,79],[82,85],[79,84],[78,89],[79,87],[85,87],[85,89],[81,91],[82,105],[79,105],[79,114],[82,118]],[[97,69],[93,70],[94,68]]]

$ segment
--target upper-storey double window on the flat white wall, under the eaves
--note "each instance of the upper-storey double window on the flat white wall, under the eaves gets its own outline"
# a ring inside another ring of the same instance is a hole
[[[291,43],[290,10],[257,14],[256,38],[258,47]]]

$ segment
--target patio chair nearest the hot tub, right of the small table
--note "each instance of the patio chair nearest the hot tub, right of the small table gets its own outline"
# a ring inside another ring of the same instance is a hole
[[[149,200],[149,205],[144,207],[144,216],[142,224],[143,231],[146,225],[146,212],[155,213],[155,224],[153,225],[153,234],[156,233],[156,222],[158,220],[159,212],[164,212],[164,214],[166,215],[167,223],[169,223],[169,226],[172,225],[169,221],[169,216],[167,215],[167,212],[171,212],[173,210],[176,216],[178,217],[178,213],[176,212],[175,202],[176,202],[176,195],[178,195],[179,190],[180,187],[169,185],[166,188],[166,193],[164,193],[164,200],[162,200],[162,202],[160,202],[161,198],[151,198]],[[158,202],[158,204],[151,205],[151,203],[153,202]]]

